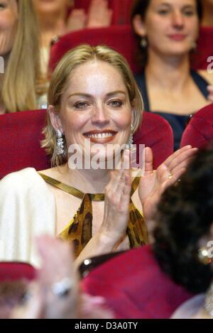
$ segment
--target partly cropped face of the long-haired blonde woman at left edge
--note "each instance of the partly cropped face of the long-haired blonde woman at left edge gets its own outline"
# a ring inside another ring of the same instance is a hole
[[[0,55],[7,55],[13,48],[18,21],[16,0],[0,0]]]

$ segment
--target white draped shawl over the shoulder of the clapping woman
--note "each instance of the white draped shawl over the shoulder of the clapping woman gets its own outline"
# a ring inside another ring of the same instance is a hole
[[[0,181],[0,261],[39,265],[35,236],[55,236],[55,197],[35,169]]]

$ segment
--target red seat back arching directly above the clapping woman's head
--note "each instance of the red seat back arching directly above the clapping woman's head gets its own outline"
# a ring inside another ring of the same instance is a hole
[[[111,26],[109,28],[84,29],[67,33],[51,48],[50,70],[54,70],[55,65],[68,50],[84,43],[90,45],[108,45],[124,55],[133,72],[140,70],[136,66],[137,45],[131,26]]]

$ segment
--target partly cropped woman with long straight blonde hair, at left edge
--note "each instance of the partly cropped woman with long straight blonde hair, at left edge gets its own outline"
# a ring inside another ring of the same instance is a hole
[[[31,0],[1,0],[0,114],[40,107],[38,26]]]

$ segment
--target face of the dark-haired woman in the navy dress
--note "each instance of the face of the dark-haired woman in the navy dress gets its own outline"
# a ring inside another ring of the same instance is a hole
[[[192,50],[198,37],[195,0],[151,0],[141,22],[150,50],[163,55],[182,55]]]

